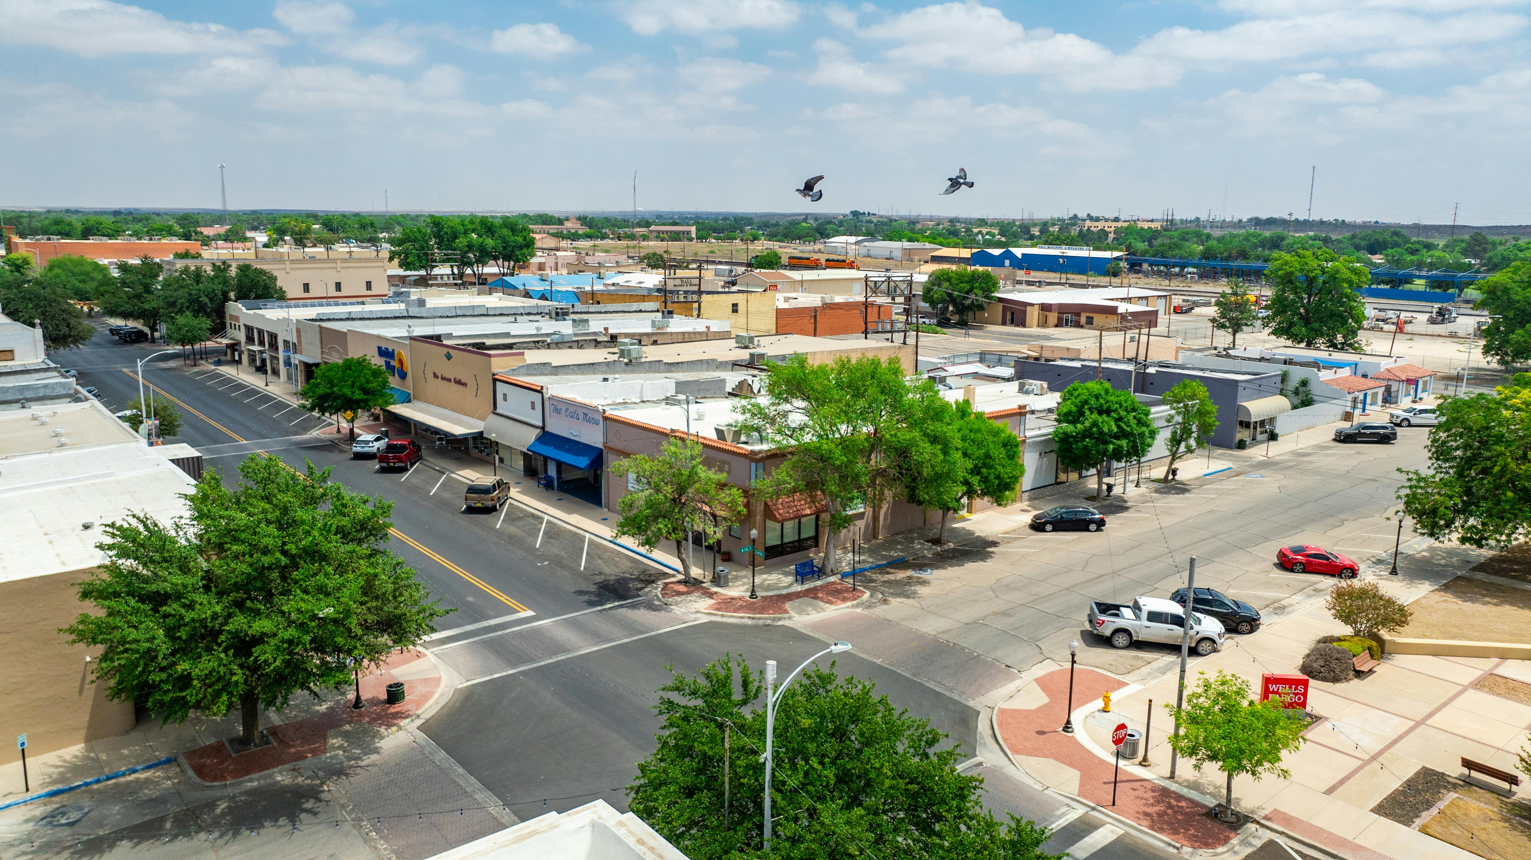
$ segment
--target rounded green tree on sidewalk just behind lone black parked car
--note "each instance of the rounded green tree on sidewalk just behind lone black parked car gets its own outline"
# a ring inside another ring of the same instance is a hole
[[[1053,444],[1058,462],[1067,468],[1095,471],[1095,499],[1104,499],[1105,464],[1131,462],[1153,448],[1159,428],[1148,407],[1131,392],[1119,392],[1096,380],[1075,383],[1058,401]]]

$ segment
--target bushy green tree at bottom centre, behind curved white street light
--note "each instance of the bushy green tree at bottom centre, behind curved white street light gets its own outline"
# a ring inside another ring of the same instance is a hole
[[[669,670],[629,808],[695,860],[764,857],[762,678],[732,655],[694,678]],[[966,753],[943,738],[871,681],[805,669],[776,705],[770,857],[1059,860],[1041,849],[1047,828],[984,810],[983,777],[958,773]]]

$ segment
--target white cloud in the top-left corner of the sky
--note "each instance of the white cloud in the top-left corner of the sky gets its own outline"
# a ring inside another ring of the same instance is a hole
[[[81,57],[119,54],[256,54],[285,44],[268,29],[173,21],[107,0],[0,0],[0,43],[54,47]]]

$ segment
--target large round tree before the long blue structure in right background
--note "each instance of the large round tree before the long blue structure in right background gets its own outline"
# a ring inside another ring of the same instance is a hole
[[[1307,347],[1363,349],[1372,269],[1329,249],[1271,254],[1271,334]]]

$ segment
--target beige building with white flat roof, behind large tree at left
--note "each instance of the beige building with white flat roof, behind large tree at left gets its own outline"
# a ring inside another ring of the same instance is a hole
[[[47,753],[121,735],[133,702],[96,681],[98,649],[58,632],[81,612],[75,583],[96,575],[103,526],[130,511],[168,522],[187,511],[191,477],[149,448],[98,401],[0,412],[0,738],[26,733]],[[20,788],[20,787],[17,787]]]

